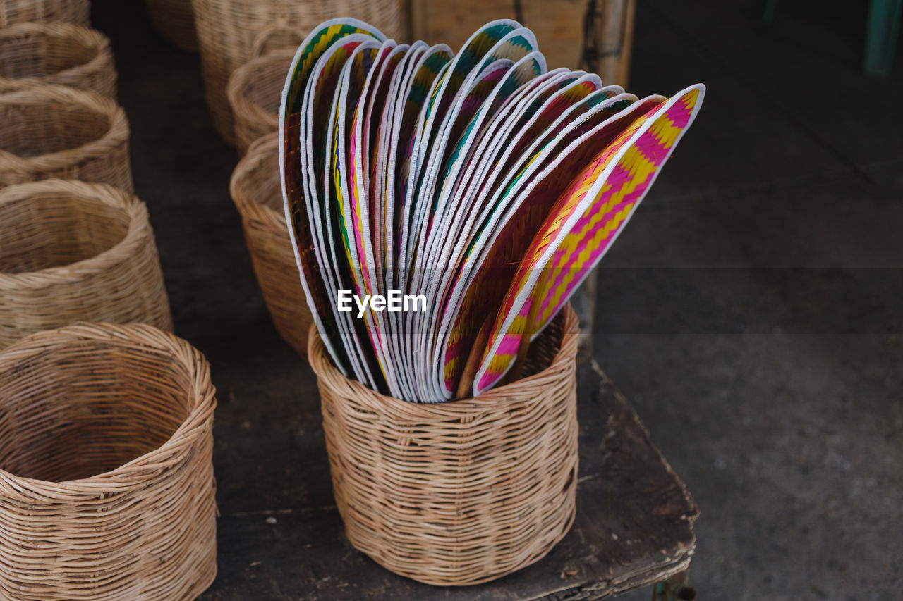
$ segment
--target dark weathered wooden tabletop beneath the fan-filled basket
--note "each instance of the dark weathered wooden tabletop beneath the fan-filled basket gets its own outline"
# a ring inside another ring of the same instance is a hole
[[[305,381],[312,380],[309,374],[305,370]],[[545,559],[478,587],[422,585],[350,547],[331,504],[312,381],[302,391],[267,395],[303,412],[287,439],[256,433],[279,431],[272,413],[268,430],[258,430],[256,417],[227,417],[217,430],[219,577],[201,598],[600,599],[687,568],[694,501],[610,380],[585,359],[579,374],[581,469],[573,528]],[[281,447],[284,455],[267,465],[248,461],[242,451],[259,447]],[[259,509],[261,503],[268,508]]]

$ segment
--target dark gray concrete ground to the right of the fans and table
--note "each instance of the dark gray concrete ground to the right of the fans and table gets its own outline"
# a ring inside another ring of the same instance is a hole
[[[700,598],[903,598],[903,55],[861,75],[865,3],[762,4],[639,2],[629,88],[708,96],[596,356],[702,509]]]

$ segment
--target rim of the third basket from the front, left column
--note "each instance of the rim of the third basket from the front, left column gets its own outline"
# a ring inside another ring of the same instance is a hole
[[[66,148],[53,153],[23,157],[0,148],[0,171],[21,172],[53,171],[89,159],[104,156],[110,148],[128,141],[126,111],[112,98],[97,92],[58,86],[35,84],[19,79],[0,79],[0,106],[2,105],[79,105],[83,109],[99,113],[109,120],[107,131],[94,140],[76,148]]]

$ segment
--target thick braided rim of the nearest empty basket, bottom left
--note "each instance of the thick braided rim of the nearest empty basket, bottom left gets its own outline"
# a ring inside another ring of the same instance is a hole
[[[186,340],[147,324],[79,322],[37,332],[0,350],[0,371],[21,365],[30,357],[46,352],[49,347],[54,347],[61,341],[80,345],[89,342],[118,343],[123,346],[150,347],[170,354],[176,362],[188,367],[191,378],[188,391],[191,406],[188,415],[172,432],[172,436],[159,447],[94,476],[53,482],[16,476],[0,467],[0,497],[14,496],[29,501],[34,501],[34,497],[37,497],[59,503],[61,497],[75,499],[96,497],[98,494],[120,494],[140,488],[160,472],[182,463],[194,442],[209,428],[217,405],[216,388],[210,382],[209,364],[200,351]]]

